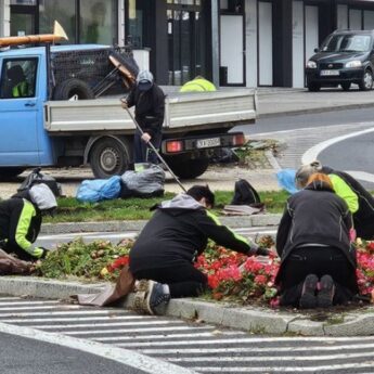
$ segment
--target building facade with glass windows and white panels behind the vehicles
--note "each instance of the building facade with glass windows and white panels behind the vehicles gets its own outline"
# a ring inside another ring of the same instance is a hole
[[[374,28],[374,1],[0,0],[0,36],[50,34],[54,20],[69,43],[131,43],[160,85],[304,87],[330,33]]]

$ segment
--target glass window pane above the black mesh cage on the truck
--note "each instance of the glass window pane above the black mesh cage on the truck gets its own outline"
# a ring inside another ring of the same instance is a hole
[[[116,43],[115,1],[80,0],[79,26],[81,43]]]

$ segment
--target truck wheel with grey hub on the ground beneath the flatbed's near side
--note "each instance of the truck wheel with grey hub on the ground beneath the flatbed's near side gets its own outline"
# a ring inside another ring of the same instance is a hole
[[[120,176],[130,165],[130,146],[115,138],[98,140],[90,152],[90,165],[95,178]]]

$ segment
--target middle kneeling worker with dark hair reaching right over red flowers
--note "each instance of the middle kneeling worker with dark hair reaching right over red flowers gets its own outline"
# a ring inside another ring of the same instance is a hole
[[[130,270],[137,280],[153,281],[141,281],[138,286],[150,313],[162,313],[170,297],[197,296],[206,289],[207,276],[193,262],[208,238],[248,256],[268,255],[267,249],[220,224],[207,210],[214,204],[208,186],[194,185],[157,206],[137,238],[130,250]]]

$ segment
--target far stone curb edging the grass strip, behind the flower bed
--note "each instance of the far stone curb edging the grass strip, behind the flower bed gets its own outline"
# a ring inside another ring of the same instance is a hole
[[[278,225],[282,215],[259,214],[253,216],[219,217],[222,224],[231,229]],[[68,234],[79,232],[122,232],[140,231],[146,220],[139,221],[103,221],[103,222],[66,222],[43,223],[41,234]]]

